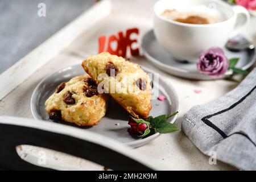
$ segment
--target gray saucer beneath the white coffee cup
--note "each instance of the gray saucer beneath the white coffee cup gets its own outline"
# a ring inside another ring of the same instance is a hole
[[[216,78],[199,73],[196,68],[196,63],[182,63],[176,61],[170,53],[163,49],[155,39],[154,31],[148,31],[142,38],[141,44],[144,55],[156,67],[178,77],[189,78],[193,80],[214,80]],[[248,69],[255,62],[255,50],[244,49],[239,52],[232,52],[224,48],[225,55],[231,59],[240,57],[237,67]],[[226,72],[226,75],[231,75],[232,72]]]

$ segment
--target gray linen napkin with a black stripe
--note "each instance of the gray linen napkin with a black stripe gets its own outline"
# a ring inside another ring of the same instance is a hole
[[[204,154],[256,170],[256,68],[225,96],[193,106],[181,129]]]

